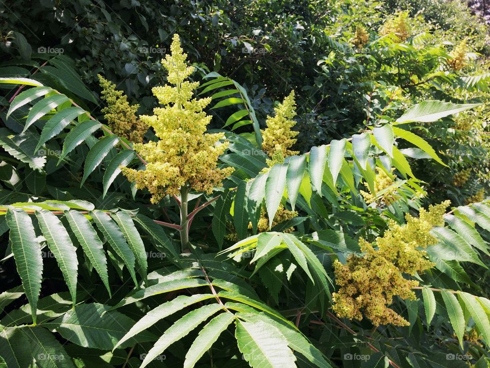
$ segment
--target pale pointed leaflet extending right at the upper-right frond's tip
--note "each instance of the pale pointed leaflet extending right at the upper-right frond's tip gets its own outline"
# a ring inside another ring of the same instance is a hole
[[[398,124],[433,122],[480,105],[481,104],[453,104],[451,102],[428,100],[408,108],[396,122]]]

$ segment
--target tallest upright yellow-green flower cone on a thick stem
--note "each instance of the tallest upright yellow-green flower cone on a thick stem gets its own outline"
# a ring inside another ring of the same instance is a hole
[[[217,160],[228,143],[223,133],[206,133],[211,121],[203,109],[210,98],[192,98],[199,82],[189,82],[194,68],[187,66],[179,36],[174,35],[171,55],[162,60],[168,72],[165,85],[152,89],[163,107],[153,110],[152,116],[141,116],[141,121],[155,130],[158,142],[137,144],[134,149],[148,163],[145,170],[125,168],[123,173],[136,183],[138,189],[146,188],[157,203],[165,195],[177,195],[181,187],[189,186],[198,192],[212,192],[233,168],[220,169]]]

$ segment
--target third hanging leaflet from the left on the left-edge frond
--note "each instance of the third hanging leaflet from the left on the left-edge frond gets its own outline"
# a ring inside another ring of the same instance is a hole
[[[71,231],[82,246],[85,255],[102,279],[107,292],[111,295],[109,277],[107,274],[107,260],[102,241],[97,236],[90,221],[78,211],[65,211]]]

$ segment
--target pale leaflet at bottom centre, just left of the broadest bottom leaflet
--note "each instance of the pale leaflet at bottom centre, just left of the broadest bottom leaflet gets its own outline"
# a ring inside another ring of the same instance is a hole
[[[225,312],[219,314],[209,321],[209,323],[199,331],[185,355],[184,368],[193,368],[195,363],[208,351],[212,344],[218,339],[219,335],[227,329],[232,323],[235,316],[232,313]]]

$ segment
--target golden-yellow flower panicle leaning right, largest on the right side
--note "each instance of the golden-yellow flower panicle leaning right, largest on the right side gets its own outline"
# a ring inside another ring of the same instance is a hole
[[[426,258],[427,246],[437,243],[430,235],[434,226],[444,224],[443,216],[449,201],[420,210],[419,218],[406,215],[407,223],[389,222],[389,230],[375,244],[359,239],[362,256],[350,255],[346,264],[334,262],[335,283],[333,310],[339,317],[361,320],[364,316],[373,325],[408,326],[408,321],[389,305],[394,296],[415,300],[412,289],[419,285],[404,274],[415,275],[433,267]]]

